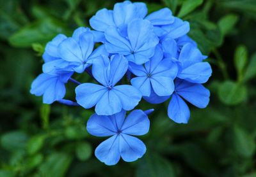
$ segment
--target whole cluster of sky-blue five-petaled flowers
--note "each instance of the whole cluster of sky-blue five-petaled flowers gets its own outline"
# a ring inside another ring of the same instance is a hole
[[[120,157],[131,162],[146,152],[133,136],[148,132],[147,115],[152,111],[131,110],[141,99],[159,104],[171,98],[168,117],[187,123],[185,101],[198,108],[209,103],[210,92],[202,83],[211,76],[211,66],[187,36],[189,23],[173,17],[168,8],[147,15],[145,3],[124,1],[113,10],[99,10],[90,25],[93,30],[79,27],[72,37],[59,34],[47,43],[43,73],[33,81],[31,94],[43,96],[46,104],[95,107],[87,131],[111,136],[96,148],[96,157],[108,165]],[[95,81],[71,78],[84,72]],[[68,81],[78,85],[76,102],[63,99]],[[126,111],[131,111],[127,118]]]

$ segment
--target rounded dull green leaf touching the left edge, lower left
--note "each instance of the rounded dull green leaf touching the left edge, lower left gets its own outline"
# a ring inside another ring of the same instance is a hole
[[[17,151],[25,148],[27,140],[28,136],[24,132],[7,132],[1,136],[1,145],[6,150]]]

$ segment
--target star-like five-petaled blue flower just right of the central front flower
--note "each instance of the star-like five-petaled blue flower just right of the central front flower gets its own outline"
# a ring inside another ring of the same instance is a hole
[[[163,52],[156,47],[154,56],[145,66],[130,64],[129,70],[136,75],[131,83],[140,89],[142,96],[150,96],[151,89],[157,96],[170,96],[174,90],[173,80],[177,76],[178,67],[171,59],[163,59]]]

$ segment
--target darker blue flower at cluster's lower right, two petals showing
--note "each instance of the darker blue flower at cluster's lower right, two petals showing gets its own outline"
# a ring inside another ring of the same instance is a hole
[[[188,123],[190,112],[183,99],[198,108],[205,108],[209,103],[210,92],[202,84],[186,80],[175,80],[175,92],[168,106],[168,117],[177,123]]]

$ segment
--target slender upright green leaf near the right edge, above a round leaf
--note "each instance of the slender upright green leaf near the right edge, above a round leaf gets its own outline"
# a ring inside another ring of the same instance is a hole
[[[238,80],[241,81],[244,75],[244,68],[248,60],[248,52],[244,45],[239,45],[236,48],[234,62],[238,73]]]

